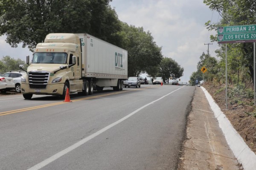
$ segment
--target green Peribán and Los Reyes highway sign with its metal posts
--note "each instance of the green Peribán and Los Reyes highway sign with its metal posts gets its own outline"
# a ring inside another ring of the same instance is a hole
[[[256,42],[256,25],[247,25],[247,26],[226,26],[218,27],[218,43],[226,44],[226,109],[227,107],[227,43],[241,43],[241,42],[253,42],[253,96],[254,96],[254,105],[256,105],[256,76],[255,76],[255,42]]]

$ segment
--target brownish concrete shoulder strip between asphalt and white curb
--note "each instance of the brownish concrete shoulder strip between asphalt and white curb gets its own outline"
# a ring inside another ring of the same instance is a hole
[[[204,91],[196,87],[178,170],[239,170],[239,167]]]

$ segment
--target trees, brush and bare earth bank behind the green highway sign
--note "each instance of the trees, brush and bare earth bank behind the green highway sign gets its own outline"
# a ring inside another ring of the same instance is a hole
[[[217,41],[219,26],[254,25],[256,3],[244,0],[204,0],[210,9],[218,11],[222,19],[219,23],[208,21],[208,30],[215,30],[211,40]],[[217,58],[202,54],[197,71],[190,77],[190,83],[204,80],[203,87],[212,95],[221,110],[226,114],[234,128],[240,133],[247,145],[256,153],[256,107],[253,91],[253,43],[227,44],[227,101],[225,109],[225,44],[219,44],[215,51]],[[207,72],[201,72],[205,66]]]

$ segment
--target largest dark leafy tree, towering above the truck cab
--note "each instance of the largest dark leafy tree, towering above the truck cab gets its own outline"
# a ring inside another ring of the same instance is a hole
[[[0,34],[31,51],[49,33],[88,33],[119,42],[120,21],[111,0],[0,0]]]

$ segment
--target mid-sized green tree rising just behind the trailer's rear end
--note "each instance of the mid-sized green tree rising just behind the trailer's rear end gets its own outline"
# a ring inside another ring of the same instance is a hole
[[[122,23],[122,31],[118,34],[122,37],[120,46],[128,51],[128,76],[138,77],[143,72],[156,75],[163,56],[151,33],[142,27]]]

